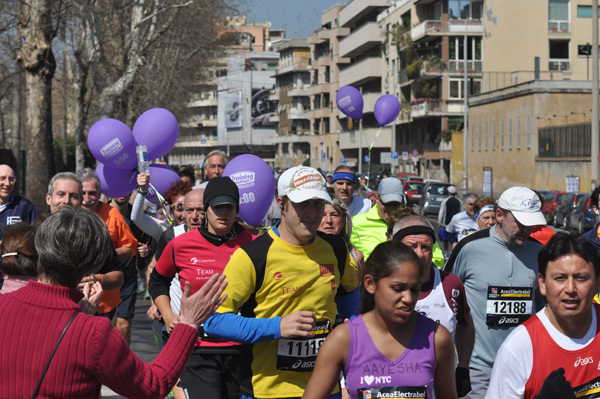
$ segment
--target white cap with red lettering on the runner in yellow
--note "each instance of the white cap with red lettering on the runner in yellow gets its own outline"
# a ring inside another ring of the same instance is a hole
[[[322,199],[331,203],[323,175],[308,166],[295,166],[283,172],[277,183],[277,194],[280,197],[287,196],[294,203],[309,199]]]

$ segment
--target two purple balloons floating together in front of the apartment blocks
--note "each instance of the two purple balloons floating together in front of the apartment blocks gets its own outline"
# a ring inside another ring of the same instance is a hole
[[[363,98],[355,87],[344,86],[337,92],[335,98],[340,111],[352,119],[362,119]],[[391,94],[384,94],[375,102],[375,119],[379,126],[385,126],[394,121],[400,113],[400,102]]]

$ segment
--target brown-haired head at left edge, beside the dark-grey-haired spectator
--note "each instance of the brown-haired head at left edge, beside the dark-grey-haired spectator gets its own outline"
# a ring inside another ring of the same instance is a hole
[[[9,276],[37,276],[38,254],[35,249],[36,225],[13,224],[4,233],[0,251],[0,271]]]

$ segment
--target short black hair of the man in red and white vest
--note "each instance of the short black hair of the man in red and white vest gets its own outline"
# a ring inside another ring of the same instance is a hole
[[[542,277],[546,277],[548,263],[569,254],[591,263],[596,277],[600,276],[600,255],[596,246],[581,234],[559,232],[538,253],[538,271]]]

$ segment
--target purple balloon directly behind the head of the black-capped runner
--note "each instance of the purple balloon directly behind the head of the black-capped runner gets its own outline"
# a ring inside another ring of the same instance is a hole
[[[271,168],[256,155],[243,154],[225,167],[240,190],[240,217],[251,226],[262,223],[275,195],[275,178]]]

